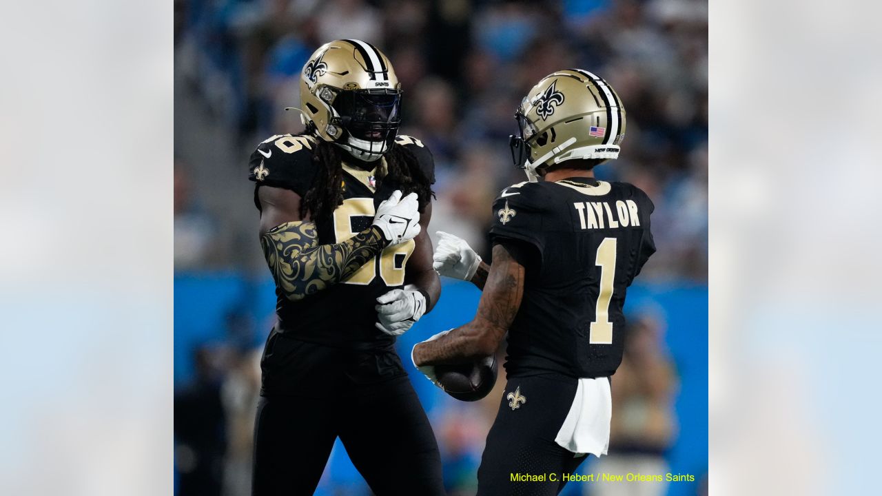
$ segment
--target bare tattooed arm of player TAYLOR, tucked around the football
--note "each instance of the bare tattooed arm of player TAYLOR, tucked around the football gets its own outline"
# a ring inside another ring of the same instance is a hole
[[[434,341],[417,344],[414,363],[417,366],[456,363],[495,353],[518,313],[523,294],[524,267],[512,258],[505,246],[495,245],[493,265],[475,319]]]

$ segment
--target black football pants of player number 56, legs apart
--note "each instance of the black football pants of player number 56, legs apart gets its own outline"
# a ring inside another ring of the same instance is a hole
[[[261,396],[252,495],[312,494],[337,437],[377,496],[444,494],[435,435],[401,376],[332,398]]]

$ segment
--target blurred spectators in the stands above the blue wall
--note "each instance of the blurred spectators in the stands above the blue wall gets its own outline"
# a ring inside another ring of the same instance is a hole
[[[298,105],[307,57],[340,38],[392,60],[400,132],[435,156],[430,230],[483,253],[492,199],[525,179],[507,139],[519,101],[558,69],[601,75],[624,101],[627,136],[597,176],[637,184],[656,206],[658,252],[644,277],[706,281],[702,0],[177,0],[176,268],[260,269],[248,156],[267,136],[303,129],[284,108]]]

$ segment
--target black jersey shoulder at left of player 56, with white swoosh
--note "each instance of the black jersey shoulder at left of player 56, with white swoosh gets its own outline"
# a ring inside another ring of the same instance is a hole
[[[258,185],[285,188],[303,196],[316,175],[312,162],[315,147],[316,139],[305,135],[277,134],[265,139],[251,153],[248,178]]]

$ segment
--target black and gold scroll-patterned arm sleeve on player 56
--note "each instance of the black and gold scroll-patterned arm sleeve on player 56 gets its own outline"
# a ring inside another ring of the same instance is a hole
[[[291,301],[346,281],[386,244],[376,226],[342,243],[318,244],[314,222],[285,222],[260,237],[273,279]]]

